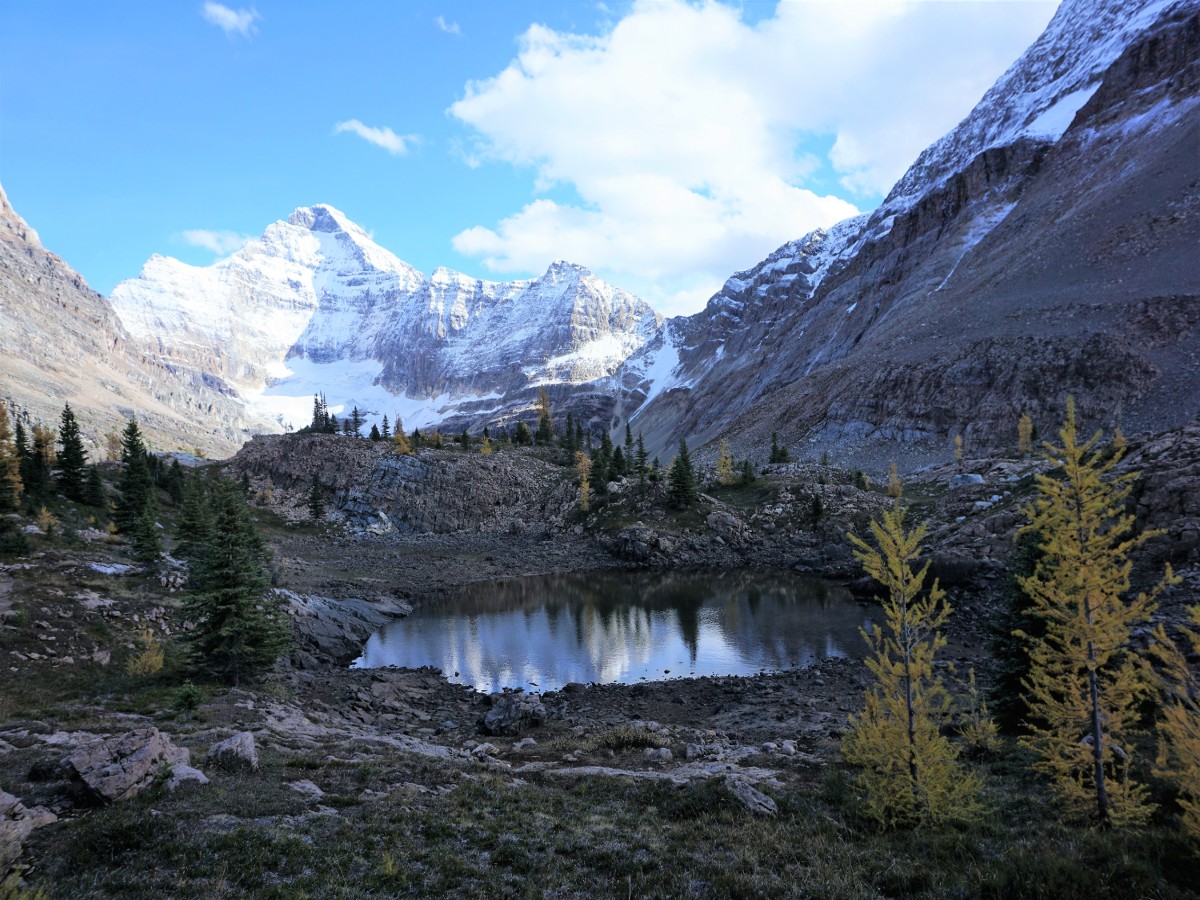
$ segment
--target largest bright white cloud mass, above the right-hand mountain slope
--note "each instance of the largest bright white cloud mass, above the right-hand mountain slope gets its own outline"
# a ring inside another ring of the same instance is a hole
[[[529,167],[578,202],[530,198],[454,246],[494,271],[568,258],[695,310],[734,270],[874,205],[1056,2],[781,2],[748,24],[712,0],[638,0],[600,36],[533,25],[450,113],[475,130],[466,160]]]

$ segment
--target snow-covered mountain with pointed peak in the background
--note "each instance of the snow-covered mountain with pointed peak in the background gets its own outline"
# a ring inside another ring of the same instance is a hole
[[[335,413],[421,427],[480,430],[528,410],[542,386],[606,415],[614,373],[662,330],[646,302],[569,263],[533,281],[426,277],[328,205],[208,268],[156,256],[112,299],[157,356],[218,374],[298,427],[317,391]]]

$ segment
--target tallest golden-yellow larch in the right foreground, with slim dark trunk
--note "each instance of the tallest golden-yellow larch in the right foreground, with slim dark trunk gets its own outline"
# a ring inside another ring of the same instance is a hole
[[[1135,824],[1152,811],[1147,788],[1134,780],[1133,739],[1139,704],[1153,684],[1129,635],[1150,622],[1171,575],[1148,594],[1123,599],[1129,554],[1153,536],[1134,536],[1124,511],[1136,475],[1111,474],[1122,454],[1096,449],[1099,433],[1080,443],[1070,400],[1058,437],[1062,445],[1046,444],[1045,454],[1058,469],[1038,475],[1040,496],[1026,510],[1026,530],[1040,535],[1042,558],[1019,583],[1046,632],[1030,650],[1024,684],[1031,721],[1021,743],[1038,755],[1036,768],[1068,808]]]

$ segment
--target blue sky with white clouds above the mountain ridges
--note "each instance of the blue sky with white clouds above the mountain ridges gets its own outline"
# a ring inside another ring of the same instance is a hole
[[[422,271],[667,313],[878,204],[1056,0],[6,0],[0,184],[97,290],[329,203]]]

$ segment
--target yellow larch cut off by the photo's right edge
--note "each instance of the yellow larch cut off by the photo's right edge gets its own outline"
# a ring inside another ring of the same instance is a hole
[[[1183,629],[1183,637],[1192,653],[1200,655],[1200,606],[1193,606],[1190,612],[1193,626]],[[1160,685],[1168,698],[1158,724],[1158,772],[1178,790],[1183,827],[1200,840],[1200,674],[1162,625],[1154,629],[1154,641]]]

